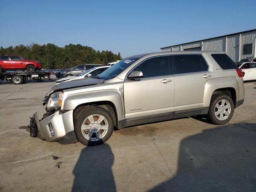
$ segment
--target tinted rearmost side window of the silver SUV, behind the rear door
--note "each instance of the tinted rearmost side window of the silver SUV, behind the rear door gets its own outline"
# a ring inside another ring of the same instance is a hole
[[[226,54],[212,54],[214,60],[220,65],[222,69],[235,69],[238,66]]]

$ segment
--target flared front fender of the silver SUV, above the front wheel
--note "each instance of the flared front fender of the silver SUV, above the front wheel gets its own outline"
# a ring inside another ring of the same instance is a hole
[[[100,90],[67,96],[62,105],[62,110],[73,110],[78,105],[100,101],[112,102],[116,107],[118,121],[124,119],[123,100],[121,93],[117,90]]]

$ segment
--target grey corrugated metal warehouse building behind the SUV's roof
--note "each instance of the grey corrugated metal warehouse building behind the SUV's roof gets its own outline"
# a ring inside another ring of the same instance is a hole
[[[160,48],[164,51],[224,51],[234,62],[256,57],[256,29]]]

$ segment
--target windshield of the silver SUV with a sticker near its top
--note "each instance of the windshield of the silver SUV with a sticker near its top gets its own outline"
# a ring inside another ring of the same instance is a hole
[[[122,71],[124,71],[128,66],[133,64],[136,60],[139,58],[126,58],[121,60],[120,62],[117,62],[104,72],[102,72],[98,78],[102,78],[104,80],[112,79],[115,76],[118,76]]]

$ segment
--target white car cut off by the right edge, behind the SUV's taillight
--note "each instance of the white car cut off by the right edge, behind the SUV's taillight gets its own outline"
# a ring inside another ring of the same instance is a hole
[[[256,80],[256,62],[245,62],[239,68],[244,72],[244,81]]]

